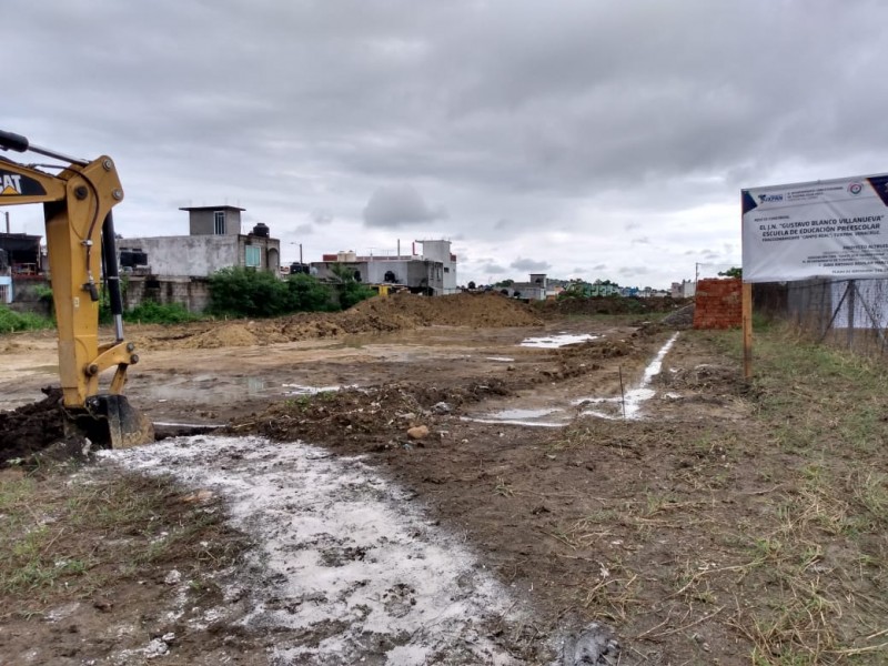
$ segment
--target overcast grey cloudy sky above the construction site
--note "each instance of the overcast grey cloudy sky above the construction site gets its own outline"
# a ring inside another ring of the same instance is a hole
[[[10,1],[0,129],[114,158],[123,235],[228,203],[285,262],[444,238],[461,284],[666,287],[740,264],[740,188],[888,171],[886,26],[881,0]]]

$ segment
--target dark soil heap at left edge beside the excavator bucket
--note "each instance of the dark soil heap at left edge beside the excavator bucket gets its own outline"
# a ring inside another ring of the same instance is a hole
[[[43,393],[47,397],[40,402],[0,412],[0,467],[85,456],[87,441],[64,434],[61,389],[43,389]]]

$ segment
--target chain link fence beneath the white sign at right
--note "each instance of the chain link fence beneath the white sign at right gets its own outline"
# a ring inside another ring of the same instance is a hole
[[[753,285],[756,312],[785,319],[817,342],[888,353],[888,280],[814,279]]]

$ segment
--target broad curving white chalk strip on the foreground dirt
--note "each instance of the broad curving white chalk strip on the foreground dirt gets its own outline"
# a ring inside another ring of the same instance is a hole
[[[224,497],[258,544],[248,568],[262,572],[236,583],[252,595],[242,622],[275,636],[276,664],[516,663],[488,636],[519,622],[521,605],[360,458],[202,435],[102,457]]]

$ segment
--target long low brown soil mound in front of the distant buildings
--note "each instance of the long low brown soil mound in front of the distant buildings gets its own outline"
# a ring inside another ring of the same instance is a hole
[[[417,296],[393,294],[370,299],[335,313],[300,313],[275,320],[200,323],[175,335],[135,335],[141,350],[218,349],[339,337],[357,333],[408,331],[422,326],[538,326],[542,321],[526,304],[501,294]]]

